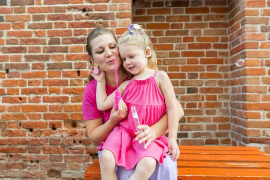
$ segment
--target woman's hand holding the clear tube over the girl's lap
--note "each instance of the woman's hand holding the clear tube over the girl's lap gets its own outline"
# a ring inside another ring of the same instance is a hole
[[[144,149],[146,149],[150,143],[156,139],[156,132],[153,131],[148,125],[138,125],[137,127],[141,132],[135,132],[135,140],[138,140],[139,143],[146,141]]]

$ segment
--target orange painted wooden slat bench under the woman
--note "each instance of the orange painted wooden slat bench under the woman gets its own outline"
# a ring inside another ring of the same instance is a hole
[[[254,147],[179,146],[180,180],[270,179],[270,156]],[[99,159],[84,174],[86,180],[100,180]]]

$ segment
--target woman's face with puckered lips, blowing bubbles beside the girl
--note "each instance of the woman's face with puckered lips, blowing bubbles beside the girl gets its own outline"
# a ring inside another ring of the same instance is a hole
[[[91,41],[92,61],[97,64],[100,69],[108,72],[114,71],[114,58],[118,60],[118,68],[122,63],[119,57],[117,42],[111,34],[99,35]]]

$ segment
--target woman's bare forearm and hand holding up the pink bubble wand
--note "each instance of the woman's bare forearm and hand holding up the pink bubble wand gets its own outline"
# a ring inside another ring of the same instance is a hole
[[[113,128],[127,116],[127,106],[120,100],[118,103],[118,111],[112,107],[110,119],[103,122],[103,118],[86,120],[87,135],[95,146],[99,146],[102,141],[105,141]]]

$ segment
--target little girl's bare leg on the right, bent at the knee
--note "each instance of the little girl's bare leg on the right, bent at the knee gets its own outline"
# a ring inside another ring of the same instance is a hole
[[[152,157],[142,158],[136,165],[135,172],[128,178],[128,180],[148,180],[155,171],[157,161]]]

